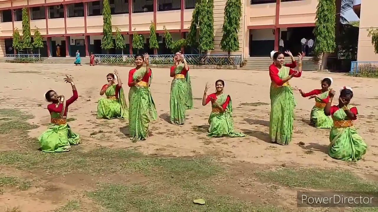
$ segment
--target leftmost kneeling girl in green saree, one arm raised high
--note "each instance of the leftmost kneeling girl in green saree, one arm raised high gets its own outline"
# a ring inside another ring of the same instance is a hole
[[[58,96],[55,91],[46,92],[45,98],[49,104],[47,106],[51,116],[51,124],[48,129],[38,137],[38,141],[43,152],[68,152],[70,145],[80,143],[80,137],[74,133],[67,124],[68,106],[77,100],[78,95],[75,84],[71,77],[66,75],[64,81],[72,86],[72,97],[64,102],[64,96]]]

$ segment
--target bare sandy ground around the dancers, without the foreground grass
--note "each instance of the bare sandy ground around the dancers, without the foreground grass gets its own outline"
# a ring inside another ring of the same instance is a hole
[[[106,75],[112,73],[114,68],[119,71],[127,93],[129,90],[127,77],[130,69],[127,67],[2,63],[0,82],[3,88],[0,108],[19,108],[33,113],[35,118],[30,121],[40,127],[32,130],[29,135],[37,137],[45,131],[46,124],[50,122],[50,115],[46,109],[48,103],[44,100],[45,92],[54,89],[59,95],[65,95],[66,99],[69,98],[72,94],[71,86],[66,84],[63,78],[65,74],[70,74],[74,77],[79,99],[70,106],[68,117],[75,119],[70,122],[70,125],[74,132],[81,135],[82,144],[80,145],[84,149],[93,149],[98,146],[136,148],[145,154],[212,155],[226,163],[242,161],[267,168],[287,164],[303,167],[345,168],[356,173],[363,173],[365,176],[366,174],[378,174],[378,166],[376,166],[378,144],[376,144],[375,136],[378,120],[375,114],[378,109],[378,91],[374,89],[378,84],[378,79],[355,78],[324,72],[304,72],[301,78],[291,80],[293,86],[297,86],[305,92],[320,88],[320,81],[324,77],[333,78],[332,88],[337,91],[344,85],[353,88],[354,97],[351,104],[357,106],[359,110],[356,127],[369,147],[363,160],[358,163],[347,163],[328,157],[326,152],[329,144],[329,130],[316,129],[308,125],[314,100],[302,98],[299,92],[294,93],[297,106],[293,141],[288,146],[270,143],[270,79],[268,71],[190,70],[194,109],[187,111],[186,124],[176,126],[168,122],[169,92],[172,80],[169,77],[169,69],[153,69],[154,78],[151,90],[159,118],[150,124],[152,136],[148,140],[132,143],[127,137],[127,121],[96,119],[96,102],[100,98],[99,90],[106,83]],[[206,137],[211,106],[202,106],[201,100],[206,82],[212,84],[210,94],[215,90],[214,83],[218,79],[225,81],[225,92],[231,95],[235,128],[247,134],[248,137]],[[299,146],[299,142],[303,142],[305,145]],[[75,147],[71,151],[75,151]],[[16,170],[3,169],[2,171],[14,172],[17,175]],[[67,177],[65,176],[64,179],[68,179]],[[79,175],[71,177],[88,180]],[[63,186],[63,184],[67,184],[64,179],[54,179],[51,183],[55,186]],[[70,184],[68,183],[68,185]],[[67,188],[67,185],[64,187]],[[44,194],[48,195],[46,192]],[[58,195],[56,198],[62,197]],[[20,200],[18,196],[10,194],[7,199]],[[26,202],[22,204],[25,206],[39,204],[34,203],[33,199],[25,198],[24,200]],[[44,207],[46,210],[43,211],[52,211],[55,208],[52,203],[51,207],[46,205]]]

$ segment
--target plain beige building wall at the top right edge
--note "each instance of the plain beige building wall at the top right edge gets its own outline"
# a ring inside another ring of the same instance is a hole
[[[369,34],[368,29],[371,27],[378,28],[378,22],[374,18],[376,8],[378,8],[378,1],[376,0],[361,1],[357,61],[378,61],[378,54],[374,52],[372,38],[367,36]]]

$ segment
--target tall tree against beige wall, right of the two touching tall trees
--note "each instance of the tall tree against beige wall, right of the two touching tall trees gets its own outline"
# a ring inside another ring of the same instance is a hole
[[[240,17],[242,17],[242,2],[240,0],[227,0],[220,48],[228,52],[228,55],[231,54],[231,51],[239,51]]]

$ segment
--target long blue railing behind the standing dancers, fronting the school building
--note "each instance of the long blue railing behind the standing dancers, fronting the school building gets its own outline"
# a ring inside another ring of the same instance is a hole
[[[149,55],[150,64],[172,65],[173,54]],[[184,54],[189,65],[240,65],[242,55],[208,55],[208,54]],[[95,54],[99,63],[134,64],[134,55]]]

